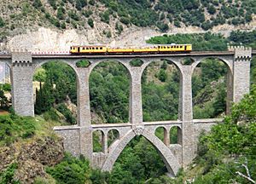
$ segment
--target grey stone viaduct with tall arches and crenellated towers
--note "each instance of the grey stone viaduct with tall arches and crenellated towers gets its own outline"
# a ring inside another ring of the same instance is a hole
[[[183,60],[194,60],[191,65],[183,65]],[[170,175],[186,167],[196,154],[196,138],[201,130],[209,130],[212,124],[222,119],[193,119],[192,73],[201,60],[218,58],[228,68],[227,112],[232,102],[240,101],[249,91],[250,60],[252,49],[230,48],[225,52],[191,52],[172,55],[32,55],[27,52],[12,52],[0,55],[0,61],[8,63],[11,71],[12,105],[22,116],[34,116],[32,76],[35,70],[49,60],[61,60],[73,68],[78,83],[78,124],[55,127],[55,132],[64,138],[64,147],[73,155],[83,154],[91,164],[102,170],[112,170],[113,164],[129,141],[136,135],[143,135],[158,150]],[[142,66],[131,66],[131,60],[140,59]],[[77,67],[79,60],[89,60],[90,66]],[[130,73],[130,112],[129,122],[120,124],[91,124],[89,78],[92,69],[100,62],[116,60]],[[141,78],[144,69],[155,60],[169,60],[180,73],[179,114],[176,121],[143,122]],[[170,129],[178,129],[177,144],[170,145]],[[157,128],[164,128],[164,141],[154,135]],[[108,132],[116,129],[119,139],[108,147]],[[93,152],[92,133],[102,131],[102,152]]]

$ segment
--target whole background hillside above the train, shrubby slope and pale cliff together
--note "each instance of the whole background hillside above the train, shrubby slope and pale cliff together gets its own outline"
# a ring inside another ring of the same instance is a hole
[[[211,30],[226,35],[256,26],[253,0],[15,0],[2,1],[0,9],[0,42],[8,40],[13,49],[141,45],[161,32]]]

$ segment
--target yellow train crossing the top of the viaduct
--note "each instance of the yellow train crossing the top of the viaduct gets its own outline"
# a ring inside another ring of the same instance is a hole
[[[103,45],[71,46],[73,55],[164,54],[192,51],[192,44],[160,44],[143,48],[108,48]]]

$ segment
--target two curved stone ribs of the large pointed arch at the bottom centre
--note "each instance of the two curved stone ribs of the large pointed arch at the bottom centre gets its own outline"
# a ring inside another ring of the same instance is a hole
[[[166,145],[160,141],[158,137],[150,134],[146,129],[143,130],[142,134],[160,153],[160,157],[166,164],[166,168],[171,175],[177,175],[177,170],[181,167],[178,163],[177,158],[173,155],[172,151],[166,147]],[[102,170],[110,171],[113,169],[113,164],[119,157],[119,154],[125,149],[126,145],[136,136],[134,131],[131,129],[125,136],[120,138],[117,145],[108,153],[108,157],[102,166]]]

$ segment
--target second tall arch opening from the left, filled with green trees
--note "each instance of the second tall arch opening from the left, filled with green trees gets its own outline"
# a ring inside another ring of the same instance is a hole
[[[115,59],[90,61],[91,65],[88,70],[91,117],[96,117],[92,112],[100,107],[106,123],[127,123],[131,93],[129,62]],[[92,119],[92,124],[95,124],[94,119]]]

